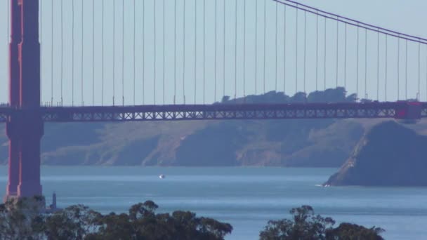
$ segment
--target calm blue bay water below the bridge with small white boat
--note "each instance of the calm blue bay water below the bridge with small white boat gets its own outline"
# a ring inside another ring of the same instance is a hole
[[[227,239],[258,239],[268,220],[313,206],[339,222],[386,229],[386,239],[427,239],[427,187],[321,187],[335,168],[160,168],[43,166],[41,182],[50,204],[85,204],[101,213],[124,212],[146,200],[159,212],[194,211],[230,222]],[[160,179],[164,174],[166,178]],[[0,166],[5,192],[7,166]]]

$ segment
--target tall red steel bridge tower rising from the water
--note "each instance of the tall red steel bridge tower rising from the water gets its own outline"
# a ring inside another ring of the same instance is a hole
[[[9,171],[5,199],[41,196],[39,0],[11,1],[9,103],[20,109],[6,124]]]

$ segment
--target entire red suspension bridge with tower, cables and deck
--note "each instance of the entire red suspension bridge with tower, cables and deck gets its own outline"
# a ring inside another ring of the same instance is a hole
[[[8,103],[0,106],[9,138],[6,199],[42,194],[44,122],[427,116],[427,39],[296,1],[1,4],[8,36]],[[310,91],[340,87],[357,100],[308,100]],[[302,100],[246,102],[270,91]],[[226,95],[235,101],[219,101]]]

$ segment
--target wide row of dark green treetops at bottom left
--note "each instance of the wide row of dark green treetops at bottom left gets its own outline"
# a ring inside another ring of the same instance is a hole
[[[189,211],[156,213],[153,201],[135,204],[129,213],[107,215],[83,205],[45,214],[40,206],[25,201],[0,204],[0,239],[219,240],[232,232],[228,223]]]

